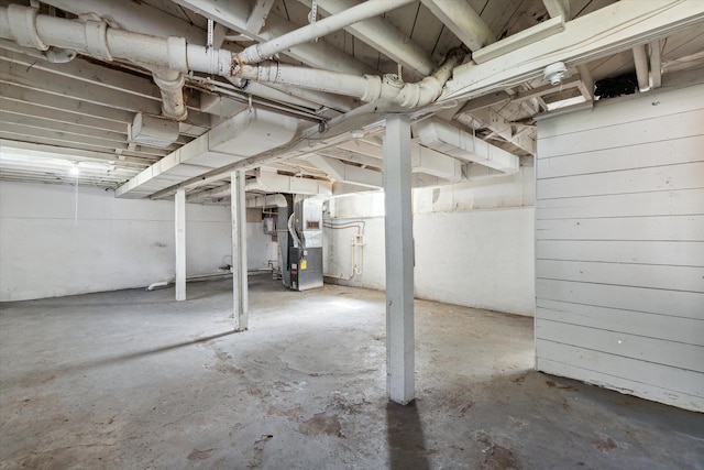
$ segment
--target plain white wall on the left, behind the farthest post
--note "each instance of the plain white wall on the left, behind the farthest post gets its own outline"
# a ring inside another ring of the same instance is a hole
[[[0,182],[0,300],[143,287],[175,275],[174,204]],[[227,207],[187,205],[187,273],[231,253]]]

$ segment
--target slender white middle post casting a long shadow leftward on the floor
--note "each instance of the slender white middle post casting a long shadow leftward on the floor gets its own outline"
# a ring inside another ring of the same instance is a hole
[[[246,287],[246,200],[244,198],[245,174],[235,170],[230,175],[232,208],[232,300],[234,330],[244,331],[249,323]]]

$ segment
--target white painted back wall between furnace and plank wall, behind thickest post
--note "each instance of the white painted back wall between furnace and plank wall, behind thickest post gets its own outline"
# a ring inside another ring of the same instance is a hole
[[[417,297],[532,316],[534,175],[414,190]],[[330,220],[365,225],[363,274],[338,282],[384,288],[383,208],[381,193],[330,200]],[[324,229],[326,273],[351,274],[354,232]]]

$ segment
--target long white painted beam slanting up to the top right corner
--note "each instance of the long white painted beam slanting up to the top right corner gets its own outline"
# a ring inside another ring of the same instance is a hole
[[[565,31],[484,64],[453,70],[441,99],[469,99],[542,76],[546,66],[568,67],[627,51],[704,21],[704,2],[622,0],[565,23]]]

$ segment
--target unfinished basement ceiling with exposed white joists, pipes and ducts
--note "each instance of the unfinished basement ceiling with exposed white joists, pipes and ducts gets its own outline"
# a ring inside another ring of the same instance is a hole
[[[529,164],[537,116],[704,79],[704,2],[507,4],[1,0],[0,178],[196,203],[227,200],[235,168],[252,195],[369,190],[405,112],[414,185],[451,184]]]

